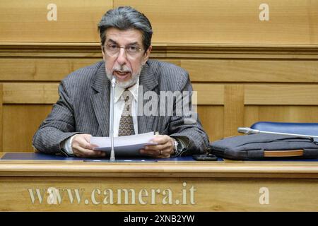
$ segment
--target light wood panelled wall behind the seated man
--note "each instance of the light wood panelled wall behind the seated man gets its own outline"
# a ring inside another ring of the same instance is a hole
[[[48,4],[57,21],[48,21]],[[211,141],[255,121],[318,121],[318,1],[0,1],[0,151],[33,151],[57,85],[102,59],[97,24],[130,5],[153,25],[153,59],[189,71]]]

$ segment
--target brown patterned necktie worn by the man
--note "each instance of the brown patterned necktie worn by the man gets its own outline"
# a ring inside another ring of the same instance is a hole
[[[119,121],[118,136],[134,135],[134,121],[131,116],[131,107],[134,97],[129,90],[124,90],[124,93],[122,93],[122,97],[124,97],[125,106],[122,112],[122,117]]]

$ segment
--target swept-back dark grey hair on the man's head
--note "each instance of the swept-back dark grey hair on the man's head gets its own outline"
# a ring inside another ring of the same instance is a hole
[[[108,28],[117,28],[119,30],[129,30],[131,28],[140,30],[143,34],[143,48],[146,50],[151,46],[151,36],[153,30],[151,23],[146,16],[136,11],[130,6],[120,6],[107,11],[98,24],[100,32],[100,42],[105,44],[106,30]]]

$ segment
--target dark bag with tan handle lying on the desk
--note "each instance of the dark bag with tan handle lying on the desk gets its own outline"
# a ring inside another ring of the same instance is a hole
[[[232,160],[318,158],[318,143],[313,138],[258,133],[214,141],[209,152]]]

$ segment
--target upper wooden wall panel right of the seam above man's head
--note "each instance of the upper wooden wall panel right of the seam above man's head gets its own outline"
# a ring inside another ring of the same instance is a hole
[[[269,21],[259,6],[269,5]],[[318,44],[318,1],[114,0],[148,16],[154,42]]]

